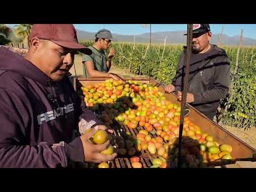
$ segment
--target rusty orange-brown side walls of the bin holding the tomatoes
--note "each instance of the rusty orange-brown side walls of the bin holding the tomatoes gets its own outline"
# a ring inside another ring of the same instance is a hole
[[[70,81],[73,82],[75,90],[79,90],[81,86],[88,86],[88,85],[94,85],[99,82],[103,82],[108,78],[84,78],[84,77],[71,77]],[[151,83],[154,86],[159,87],[159,91],[163,91],[164,89],[161,86],[159,82],[157,82],[155,79],[151,77],[136,77],[136,78],[126,78],[127,80],[132,81],[138,81],[142,83]],[[181,102],[177,100],[177,96],[175,94],[167,94],[165,93],[165,97],[167,100],[171,101],[172,103],[177,103],[177,105],[181,105]],[[225,143],[229,144],[233,147],[233,151],[231,153],[231,156],[237,159],[243,159],[243,158],[252,158],[253,155],[256,154],[256,149],[252,148],[251,146],[247,145],[245,142],[237,138],[235,135],[227,131],[226,129],[223,129],[219,124],[211,121],[209,118],[207,118],[205,115],[200,113],[198,110],[196,110],[191,105],[187,104],[187,107],[190,109],[190,113],[188,115],[191,122],[194,122],[199,127],[201,127],[202,132],[206,132],[210,135],[212,135],[214,141],[217,141],[218,143]],[[130,130],[128,127],[124,126],[124,129],[126,131],[130,131],[133,135],[135,132],[137,132],[139,128]],[[134,135],[135,136],[135,135]],[[149,156],[148,158],[153,158],[151,154],[145,154],[145,156]]]

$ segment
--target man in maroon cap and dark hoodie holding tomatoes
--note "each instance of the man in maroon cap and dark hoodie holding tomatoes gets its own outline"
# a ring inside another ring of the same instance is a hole
[[[78,44],[73,25],[35,24],[26,57],[0,48],[0,167],[67,167],[69,162],[106,162],[109,140],[90,138],[106,130],[86,108],[67,77]],[[81,133],[74,139],[74,130]],[[80,129],[81,128],[81,129]]]

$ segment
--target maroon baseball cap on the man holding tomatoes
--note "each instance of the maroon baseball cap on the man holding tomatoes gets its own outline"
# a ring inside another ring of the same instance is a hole
[[[57,45],[90,55],[92,51],[77,41],[76,29],[72,24],[34,24],[29,41],[34,37],[50,40]]]

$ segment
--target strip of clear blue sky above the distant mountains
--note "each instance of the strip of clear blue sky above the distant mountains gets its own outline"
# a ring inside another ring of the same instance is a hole
[[[16,24],[6,24],[13,27]],[[99,29],[106,28],[111,33],[122,35],[139,35],[149,32],[149,25],[143,28],[140,24],[74,24],[76,29],[81,29],[89,32],[96,32]],[[241,29],[244,29],[244,37],[256,39],[256,24],[210,24],[213,34],[221,33],[224,26],[224,34],[229,36],[240,35]],[[152,24],[152,32],[157,31],[177,31],[187,30],[186,24]]]

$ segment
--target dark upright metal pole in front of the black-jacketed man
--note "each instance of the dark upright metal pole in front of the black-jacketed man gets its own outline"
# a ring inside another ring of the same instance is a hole
[[[187,100],[187,92],[188,92],[188,76],[189,76],[189,66],[190,66],[190,53],[192,46],[192,28],[193,24],[188,24],[187,26],[187,54],[186,54],[186,73],[185,73],[185,81],[182,90],[182,100],[181,100],[181,114],[180,114],[180,131],[179,131],[179,157],[178,157],[178,167],[181,167],[181,149],[182,149],[182,132],[183,132],[183,123],[184,123],[184,110]]]

